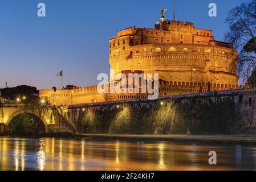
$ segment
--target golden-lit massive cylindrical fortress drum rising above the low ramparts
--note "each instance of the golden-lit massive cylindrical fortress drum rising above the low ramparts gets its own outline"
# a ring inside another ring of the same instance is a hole
[[[190,22],[165,20],[151,28],[127,28],[109,40],[109,63],[115,75],[127,71],[159,73],[169,85],[235,89],[237,51],[218,42],[212,30]],[[113,75],[112,75],[113,76]]]

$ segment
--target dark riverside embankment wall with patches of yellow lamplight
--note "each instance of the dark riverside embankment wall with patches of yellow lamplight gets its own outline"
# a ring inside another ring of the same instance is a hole
[[[78,133],[256,134],[256,89],[80,107]]]

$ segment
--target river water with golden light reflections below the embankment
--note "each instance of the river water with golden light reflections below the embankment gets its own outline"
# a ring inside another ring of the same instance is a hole
[[[216,166],[209,151],[217,152]],[[256,146],[0,137],[0,169],[255,170]]]

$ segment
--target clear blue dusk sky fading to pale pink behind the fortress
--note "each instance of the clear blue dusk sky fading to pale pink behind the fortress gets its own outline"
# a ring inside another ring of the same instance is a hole
[[[46,17],[37,16],[37,5],[46,5]],[[217,4],[217,17],[208,16],[208,5]],[[212,29],[216,40],[224,40],[228,11],[242,0],[176,0],[176,19]],[[56,73],[63,70],[64,84],[97,84],[99,73],[109,74],[109,38],[127,27],[153,28],[159,9],[172,0],[0,1],[0,88],[31,85],[38,89],[61,86]]]

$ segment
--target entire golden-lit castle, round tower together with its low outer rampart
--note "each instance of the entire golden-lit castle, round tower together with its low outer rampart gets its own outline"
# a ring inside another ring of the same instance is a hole
[[[166,20],[155,28],[131,27],[109,40],[111,82],[118,73],[158,73],[159,95],[173,96],[238,89],[237,56],[233,45],[214,40],[212,30],[193,23]],[[97,86],[40,90],[52,105],[146,98],[147,94],[100,94]]]

